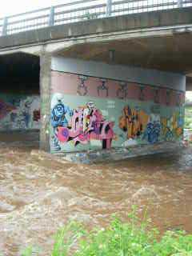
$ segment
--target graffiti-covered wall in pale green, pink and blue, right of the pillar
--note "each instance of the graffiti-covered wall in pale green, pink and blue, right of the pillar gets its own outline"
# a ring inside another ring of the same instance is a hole
[[[182,138],[185,76],[65,58],[51,75],[52,152]]]

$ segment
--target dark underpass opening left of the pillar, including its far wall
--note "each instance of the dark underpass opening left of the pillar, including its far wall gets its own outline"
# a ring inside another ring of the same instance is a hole
[[[37,56],[23,53],[0,56],[1,142],[38,147],[39,70]]]

